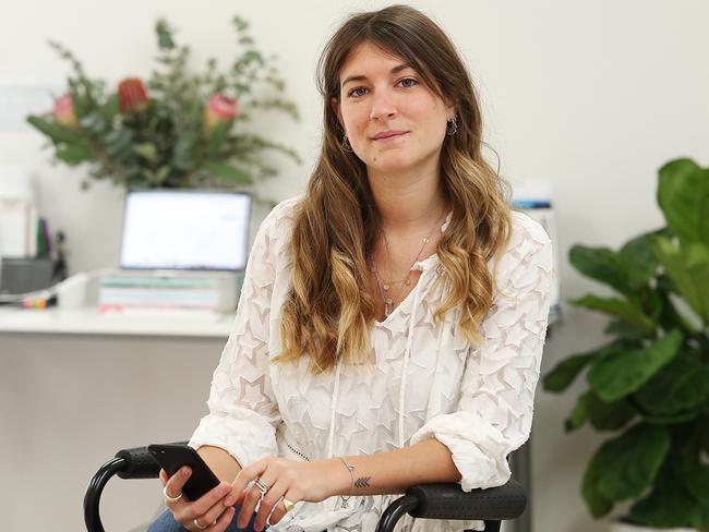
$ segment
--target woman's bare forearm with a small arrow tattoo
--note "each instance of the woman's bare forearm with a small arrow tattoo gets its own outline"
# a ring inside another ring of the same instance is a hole
[[[433,438],[402,449],[345,459],[354,468],[352,476],[339,458],[323,460],[335,481],[332,495],[398,494],[417,484],[460,481],[450,451]]]

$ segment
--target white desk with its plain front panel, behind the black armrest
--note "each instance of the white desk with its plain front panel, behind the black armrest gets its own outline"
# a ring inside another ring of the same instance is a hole
[[[0,307],[0,528],[84,530],[101,463],[189,438],[232,322]],[[111,482],[101,501],[106,530],[145,530],[160,484]]]

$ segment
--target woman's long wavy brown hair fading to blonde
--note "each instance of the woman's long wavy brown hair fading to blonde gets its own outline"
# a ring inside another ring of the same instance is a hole
[[[366,167],[343,145],[333,100],[340,100],[339,74],[350,52],[369,43],[401,58],[428,87],[457,110],[457,132],[441,150],[441,183],[453,215],[437,245],[447,288],[434,318],[458,307],[458,325],[471,344],[493,299],[488,262],[510,234],[508,188],[485,162],[476,90],[454,45],[423,13],[406,5],[350,16],[329,39],[319,62],[324,133],[320,159],[296,207],[291,241],[292,286],[281,309],[283,352],[278,362],[310,358],[313,373],[339,359],[372,361],[370,330],[376,319],[372,255],[380,216]]]

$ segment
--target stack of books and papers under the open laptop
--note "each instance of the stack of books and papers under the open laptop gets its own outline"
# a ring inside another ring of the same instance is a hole
[[[113,273],[101,276],[98,288],[100,312],[212,311],[229,312],[236,305],[233,274]]]

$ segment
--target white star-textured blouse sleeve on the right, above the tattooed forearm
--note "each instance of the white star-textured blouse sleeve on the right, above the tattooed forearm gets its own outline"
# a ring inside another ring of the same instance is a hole
[[[505,484],[507,455],[531,430],[554,274],[549,237],[525,218],[500,261],[497,292],[482,343],[469,353],[457,411],[432,418],[411,438],[413,445],[435,437],[448,447],[466,492]]]

